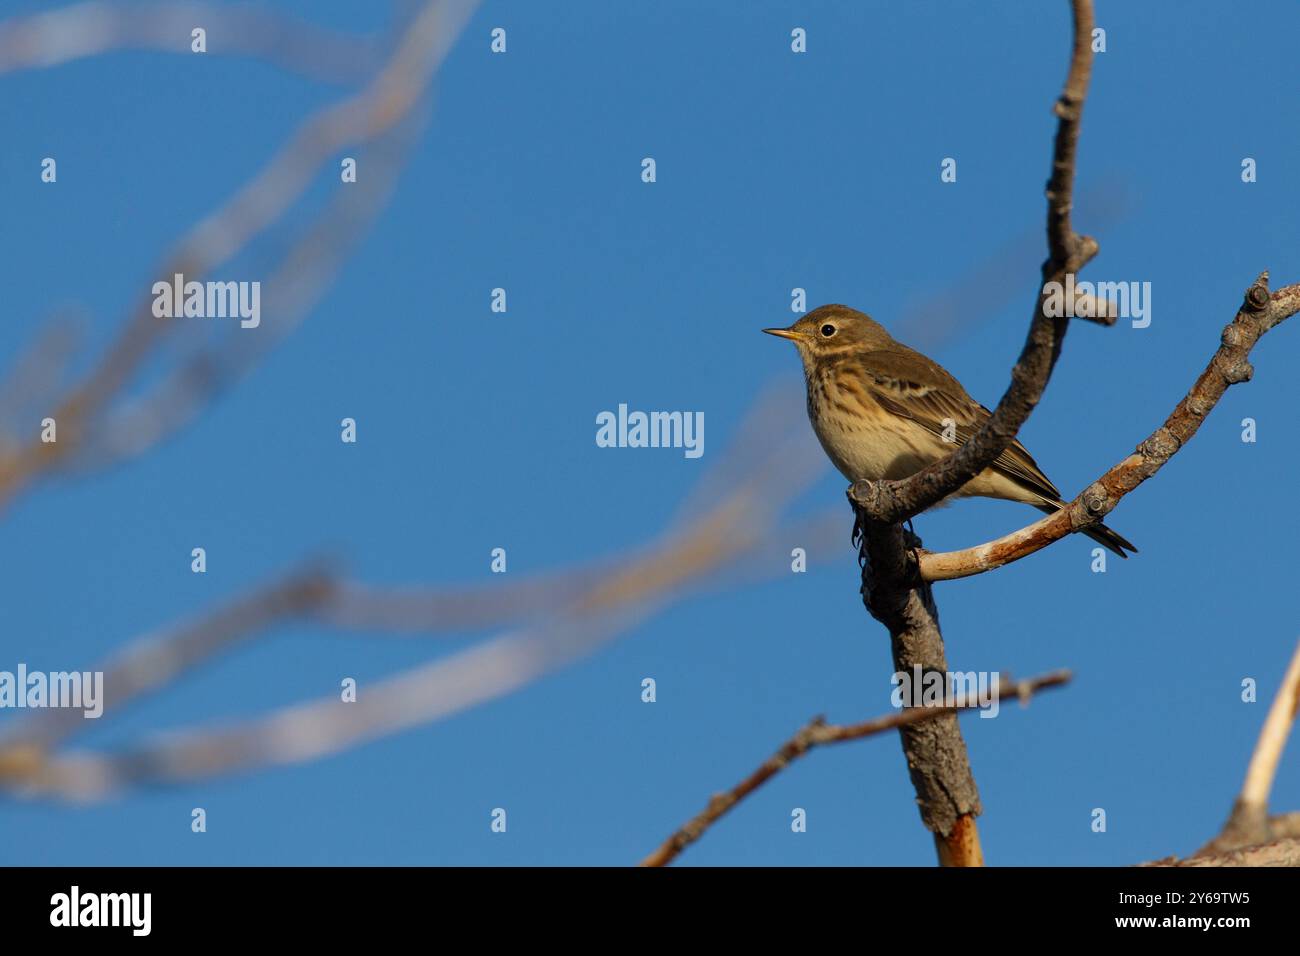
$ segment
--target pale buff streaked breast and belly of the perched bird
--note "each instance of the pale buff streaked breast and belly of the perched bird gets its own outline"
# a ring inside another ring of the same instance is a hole
[[[861,407],[858,397],[836,389],[832,382],[827,382],[827,386],[831,392],[828,398],[838,398],[854,410]],[[827,402],[818,414],[810,403],[809,419],[827,457],[849,481],[904,479],[948,457],[956,447],[915,421],[892,415],[879,406],[876,414],[863,416],[846,415],[833,402]],[[972,496],[1026,505],[1041,505],[1046,501],[992,468],[982,471],[950,497]],[[940,502],[940,506],[946,501]]]

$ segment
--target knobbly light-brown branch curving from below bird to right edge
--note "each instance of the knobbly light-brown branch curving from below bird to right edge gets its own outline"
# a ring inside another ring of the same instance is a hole
[[[992,571],[1043,550],[1083,528],[1098,524],[1119,499],[1160,471],[1191,441],[1223,393],[1231,385],[1249,381],[1251,350],[1265,332],[1300,312],[1300,285],[1269,294],[1269,273],[1264,272],[1245,291],[1245,299],[1223,329],[1218,351],[1210,358],[1191,392],[1150,437],[1124,460],[1088,485],[1069,506],[1010,535],[959,551],[922,553],[919,574],[926,581]]]

